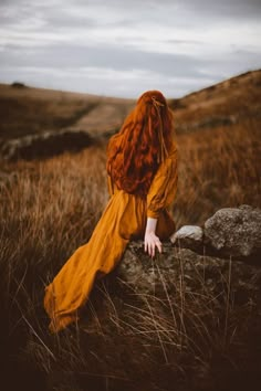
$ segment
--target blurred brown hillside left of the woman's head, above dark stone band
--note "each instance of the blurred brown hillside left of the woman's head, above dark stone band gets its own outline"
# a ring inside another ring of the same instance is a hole
[[[104,133],[117,128],[132,99],[0,84],[0,138],[64,128]]]

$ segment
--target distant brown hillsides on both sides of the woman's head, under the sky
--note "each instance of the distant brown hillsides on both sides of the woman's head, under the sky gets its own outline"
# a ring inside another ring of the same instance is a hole
[[[169,104],[178,133],[260,117],[261,70],[169,99]],[[61,128],[88,134],[113,131],[134,105],[134,99],[0,84],[0,137],[10,139]]]

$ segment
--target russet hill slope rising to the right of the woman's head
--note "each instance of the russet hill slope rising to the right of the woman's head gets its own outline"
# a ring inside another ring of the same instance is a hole
[[[261,70],[170,99],[177,133],[261,118]]]

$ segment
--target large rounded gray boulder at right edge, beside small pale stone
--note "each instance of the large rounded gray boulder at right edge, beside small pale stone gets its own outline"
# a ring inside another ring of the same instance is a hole
[[[223,256],[261,260],[261,210],[220,209],[205,222],[203,243]]]

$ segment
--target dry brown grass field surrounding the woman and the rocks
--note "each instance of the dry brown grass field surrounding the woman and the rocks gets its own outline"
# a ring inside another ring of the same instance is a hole
[[[260,126],[254,118],[177,136],[177,229],[201,225],[222,207],[261,207]],[[260,314],[234,306],[227,290],[217,307],[207,286],[186,300],[178,282],[174,297],[134,297],[108,277],[95,287],[83,325],[50,336],[43,289],[87,242],[108,200],[105,146],[1,167],[1,368],[10,390],[251,385],[261,361]]]

